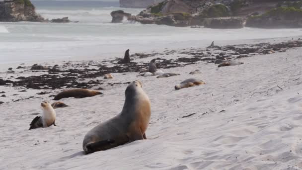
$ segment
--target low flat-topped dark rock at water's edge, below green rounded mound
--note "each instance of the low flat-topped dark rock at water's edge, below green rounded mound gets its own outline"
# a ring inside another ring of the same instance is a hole
[[[239,17],[206,18],[204,26],[206,28],[230,29],[243,28],[244,19]]]

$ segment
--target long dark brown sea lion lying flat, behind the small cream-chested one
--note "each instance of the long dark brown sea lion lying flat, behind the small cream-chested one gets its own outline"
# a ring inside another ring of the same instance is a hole
[[[75,97],[75,98],[84,98],[84,97],[93,97],[98,94],[103,94],[96,90],[89,90],[89,89],[70,89],[60,92],[58,95],[55,96],[54,100],[60,100],[62,98],[69,98],[69,97]]]

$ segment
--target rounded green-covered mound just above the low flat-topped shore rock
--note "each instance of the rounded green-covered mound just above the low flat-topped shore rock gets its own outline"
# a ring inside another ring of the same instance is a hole
[[[213,18],[213,17],[224,17],[229,16],[230,13],[227,6],[224,4],[214,4],[209,8],[203,10],[200,14],[201,18]]]

